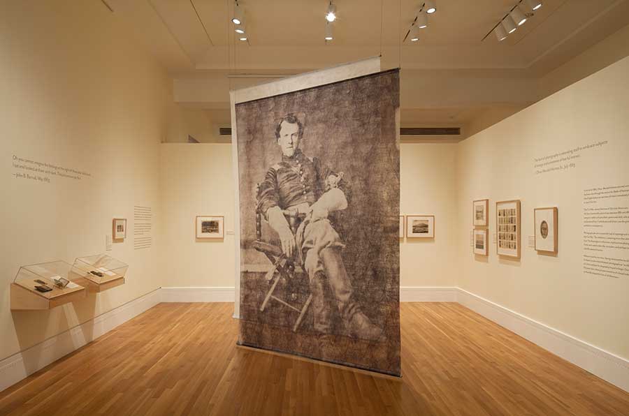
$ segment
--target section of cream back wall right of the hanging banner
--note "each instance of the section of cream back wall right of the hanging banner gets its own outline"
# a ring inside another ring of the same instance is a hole
[[[400,214],[435,215],[434,239],[400,239],[400,286],[456,285],[456,147],[400,144]]]

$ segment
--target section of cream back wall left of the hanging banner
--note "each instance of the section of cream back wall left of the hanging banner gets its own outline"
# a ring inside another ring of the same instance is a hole
[[[161,144],[162,242],[166,286],[234,285],[231,144]],[[197,215],[225,216],[223,240],[196,241]]]

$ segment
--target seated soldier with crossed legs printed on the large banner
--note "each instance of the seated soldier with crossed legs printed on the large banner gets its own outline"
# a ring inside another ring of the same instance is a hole
[[[279,235],[287,258],[298,259],[308,273],[315,330],[331,332],[332,308],[336,307],[352,336],[376,340],[382,329],[373,325],[354,300],[342,260],[345,244],[328,219],[331,212],[347,209],[347,184],[342,172],[333,172],[319,158],[302,153],[303,131],[302,121],[294,114],[278,122],[275,140],[282,160],[268,169],[259,185],[257,208]],[[303,216],[295,234],[285,210]],[[332,295],[326,297],[326,293]]]

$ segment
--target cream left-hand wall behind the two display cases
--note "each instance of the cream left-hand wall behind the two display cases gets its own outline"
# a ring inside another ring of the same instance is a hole
[[[166,73],[100,1],[4,1],[1,13],[0,359],[161,286],[158,154],[173,101]],[[13,155],[92,176],[18,179]],[[153,208],[153,248],[133,250],[133,205]],[[129,223],[109,252],[130,265],[125,285],[10,311],[21,265],[103,252],[114,217]]]

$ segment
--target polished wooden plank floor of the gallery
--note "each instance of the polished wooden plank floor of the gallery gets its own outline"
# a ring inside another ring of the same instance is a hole
[[[236,347],[159,304],[0,393],[0,415],[629,415],[629,394],[459,304],[402,304],[402,379]]]

